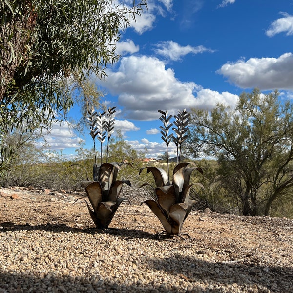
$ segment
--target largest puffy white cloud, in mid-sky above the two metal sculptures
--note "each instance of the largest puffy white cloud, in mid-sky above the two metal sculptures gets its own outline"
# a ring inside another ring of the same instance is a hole
[[[118,95],[122,114],[127,119],[156,120],[160,117],[159,109],[174,115],[185,108],[210,109],[217,102],[234,105],[238,97],[204,90],[194,82],[181,82],[171,68],[166,69],[162,61],[153,57],[124,57],[118,71],[107,74],[105,81],[97,82]]]

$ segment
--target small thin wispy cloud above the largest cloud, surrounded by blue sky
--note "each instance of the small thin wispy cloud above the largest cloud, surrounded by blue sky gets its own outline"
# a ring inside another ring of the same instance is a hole
[[[203,52],[214,52],[214,51],[204,46],[196,46],[196,47],[192,47],[190,45],[181,46],[178,43],[173,41],[165,41],[157,45],[157,49],[155,49],[155,52],[172,61],[178,61],[183,56],[189,53],[199,54]]]

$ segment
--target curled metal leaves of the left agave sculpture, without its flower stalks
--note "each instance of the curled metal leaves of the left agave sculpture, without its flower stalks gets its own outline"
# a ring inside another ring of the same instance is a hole
[[[131,165],[130,163],[128,163]],[[119,198],[124,183],[131,186],[129,180],[116,180],[121,166],[117,163],[103,163],[97,168],[97,181],[82,181],[89,202],[83,199],[87,205],[89,214],[97,228],[108,228],[120,204],[126,198]]]

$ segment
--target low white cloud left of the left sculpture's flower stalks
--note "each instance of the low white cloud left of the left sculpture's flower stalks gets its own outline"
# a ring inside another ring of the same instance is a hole
[[[49,145],[51,150],[61,150],[70,147],[79,147],[80,142],[83,141],[80,137],[70,130],[67,122],[59,122],[53,124],[49,134],[44,136],[45,141],[38,142],[38,146],[43,146],[45,143]]]

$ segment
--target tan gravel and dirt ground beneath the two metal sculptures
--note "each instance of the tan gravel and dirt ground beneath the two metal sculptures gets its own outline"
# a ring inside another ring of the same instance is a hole
[[[193,211],[169,238],[127,202],[90,229],[79,197],[0,189],[0,293],[293,293],[292,219]]]

